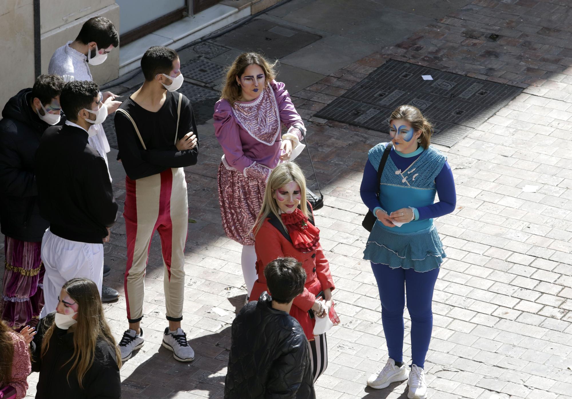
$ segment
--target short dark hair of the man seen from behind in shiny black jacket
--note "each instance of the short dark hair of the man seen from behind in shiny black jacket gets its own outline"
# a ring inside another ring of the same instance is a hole
[[[264,277],[272,300],[288,304],[304,292],[306,272],[295,258],[278,258],[264,268]]]

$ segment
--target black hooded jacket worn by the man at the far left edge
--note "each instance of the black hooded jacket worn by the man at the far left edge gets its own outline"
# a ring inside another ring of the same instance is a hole
[[[10,98],[0,120],[0,226],[5,236],[39,242],[49,223],[39,216],[34,157],[50,125],[30,107],[32,89]]]

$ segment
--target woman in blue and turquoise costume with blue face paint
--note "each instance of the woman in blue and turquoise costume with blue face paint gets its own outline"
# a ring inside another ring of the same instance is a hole
[[[378,283],[389,359],[367,380],[372,388],[408,380],[410,399],[427,397],[423,367],[431,340],[431,301],[439,266],[446,256],[433,219],[455,209],[455,182],[445,155],[430,146],[432,127],[411,105],[390,118],[393,147],[378,187],[377,170],[389,143],[368,153],[360,194],[377,220],[364,259]],[[376,195],[379,188],[379,199]],[[439,202],[435,201],[435,193]],[[411,370],[403,364],[403,310],[411,316]]]

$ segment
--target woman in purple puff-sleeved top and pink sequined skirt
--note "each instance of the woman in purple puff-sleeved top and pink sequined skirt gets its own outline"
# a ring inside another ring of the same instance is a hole
[[[223,228],[243,245],[241,265],[248,296],[257,278],[252,227],[268,176],[280,161],[290,158],[306,131],[284,83],[275,81],[275,65],[257,53],[239,55],[213,115],[224,151],[218,174]],[[282,124],[287,131],[280,135]]]

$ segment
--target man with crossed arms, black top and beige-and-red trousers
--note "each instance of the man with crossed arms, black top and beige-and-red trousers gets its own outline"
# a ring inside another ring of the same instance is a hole
[[[122,103],[115,130],[125,179],[127,265],[125,298],[129,329],[119,344],[122,360],[144,344],[144,277],[155,230],[161,237],[165,308],[169,326],[162,345],[179,361],[192,361],[193,349],[181,329],[185,284],[188,204],[184,166],[197,163],[197,127],[182,85],[176,51],[154,46],[141,59],[145,82]]]

